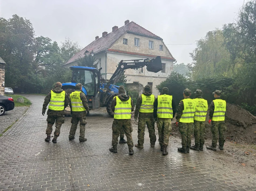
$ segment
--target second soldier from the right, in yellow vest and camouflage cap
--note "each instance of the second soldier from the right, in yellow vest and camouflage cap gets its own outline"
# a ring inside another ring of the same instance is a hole
[[[202,91],[195,91],[195,115],[194,115],[194,137],[195,145],[190,149],[203,151],[204,147],[204,133],[205,133],[205,119],[208,109],[208,103],[202,98]]]

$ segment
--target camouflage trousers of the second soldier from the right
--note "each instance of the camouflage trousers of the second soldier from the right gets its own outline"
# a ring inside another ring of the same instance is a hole
[[[205,121],[194,120],[194,137],[195,137],[196,147],[204,145],[204,133],[205,133]]]

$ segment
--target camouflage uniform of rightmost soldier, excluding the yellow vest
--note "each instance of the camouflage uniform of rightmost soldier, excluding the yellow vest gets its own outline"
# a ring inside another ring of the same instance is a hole
[[[216,99],[220,99],[220,97],[216,97]],[[210,111],[209,111],[209,117],[212,119],[214,112],[214,102],[212,101],[210,105]],[[226,113],[225,113],[226,115]],[[212,131],[212,146],[216,147],[217,146],[217,140],[218,140],[218,132],[219,132],[219,146],[223,147],[225,139],[224,139],[224,134],[226,132],[226,124],[225,121],[212,121],[211,122],[211,131]]]

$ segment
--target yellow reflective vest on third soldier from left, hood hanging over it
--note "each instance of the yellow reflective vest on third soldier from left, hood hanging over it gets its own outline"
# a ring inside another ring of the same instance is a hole
[[[121,101],[118,96],[115,96],[117,105],[115,106],[114,119],[131,119],[132,104],[131,97],[127,101]]]

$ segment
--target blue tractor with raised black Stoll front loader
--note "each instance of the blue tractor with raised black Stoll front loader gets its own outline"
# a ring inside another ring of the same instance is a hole
[[[70,83],[62,83],[62,89],[69,95],[75,91],[77,83],[83,85],[82,91],[85,93],[88,100],[90,110],[98,109],[99,107],[107,107],[107,112],[112,117],[114,113],[111,110],[111,104],[114,96],[118,94],[119,86],[115,86],[122,71],[126,69],[142,68],[146,66],[150,72],[159,72],[162,70],[161,57],[157,56],[154,59],[139,59],[139,60],[121,60],[116,71],[109,80],[102,78],[100,71],[96,68],[71,66],[72,79]],[[89,113],[88,113],[89,114]]]

